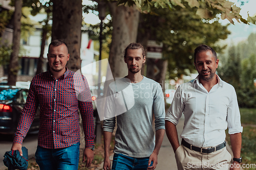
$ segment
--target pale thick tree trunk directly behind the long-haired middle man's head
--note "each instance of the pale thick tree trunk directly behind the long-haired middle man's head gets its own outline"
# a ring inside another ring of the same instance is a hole
[[[123,51],[127,45],[136,42],[139,11],[136,6],[117,6],[110,3],[110,11],[113,16],[113,33],[110,47],[110,67],[114,78],[121,78],[128,74],[128,69],[123,60]]]

